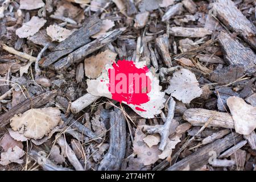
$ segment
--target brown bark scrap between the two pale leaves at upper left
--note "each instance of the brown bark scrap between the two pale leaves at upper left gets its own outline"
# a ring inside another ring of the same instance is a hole
[[[34,44],[37,44],[39,46],[46,46],[46,44],[49,44],[49,49],[53,51],[56,47],[56,44],[51,42],[51,38],[47,35],[46,29],[40,30],[33,36],[29,36],[27,38],[28,44],[34,46]]]

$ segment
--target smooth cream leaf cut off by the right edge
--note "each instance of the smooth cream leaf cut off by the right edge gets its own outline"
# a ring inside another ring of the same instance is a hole
[[[246,104],[240,97],[229,97],[227,105],[234,120],[236,132],[249,135],[256,128],[256,107]]]

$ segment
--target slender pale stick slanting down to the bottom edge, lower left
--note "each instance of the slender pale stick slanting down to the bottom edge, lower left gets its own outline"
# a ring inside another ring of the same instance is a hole
[[[82,164],[77,159],[75,152],[71,149],[71,147],[69,147],[65,138],[63,136],[60,136],[59,138],[57,138],[56,142],[61,148],[65,148],[65,154],[67,155],[69,162],[76,169],[76,171],[84,171],[84,167],[82,167]]]

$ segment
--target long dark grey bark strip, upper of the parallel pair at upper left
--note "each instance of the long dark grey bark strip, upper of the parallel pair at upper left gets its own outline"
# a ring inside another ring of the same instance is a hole
[[[44,57],[40,63],[42,67],[48,67],[60,57],[71,53],[75,49],[90,42],[90,36],[100,32],[101,20],[98,18],[89,19],[79,30],[73,32],[67,39],[58,44],[54,51]]]

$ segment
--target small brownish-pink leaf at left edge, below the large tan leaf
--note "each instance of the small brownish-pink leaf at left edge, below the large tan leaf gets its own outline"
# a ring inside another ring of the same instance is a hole
[[[6,133],[5,135],[3,135],[3,138],[0,140],[0,146],[3,148],[5,152],[7,152],[9,148],[14,148],[15,146],[23,149],[22,142],[18,142],[13,138],[11,138],[9,133]]]

